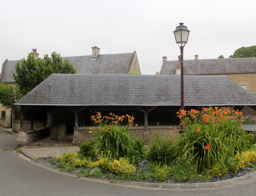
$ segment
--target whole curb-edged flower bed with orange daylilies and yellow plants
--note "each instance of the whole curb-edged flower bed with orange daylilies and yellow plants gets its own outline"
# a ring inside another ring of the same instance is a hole
[[[256,147],[241,130],[241,112],[209,107],[177,114],[185,129],[179,138],[173,140],[171,131],[168,138],[158,133],[145,146],[128,132],[132,116],[97,113],[91,117],[96,141],[43,161],[81,176],[166,183],[219,181],[256,168]]]

